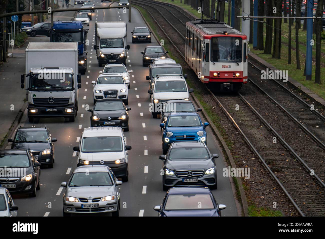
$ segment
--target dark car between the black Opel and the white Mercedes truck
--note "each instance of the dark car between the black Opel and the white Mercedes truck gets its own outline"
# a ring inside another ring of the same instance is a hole
[[[48,165],[48,168],[54,166],[53,142],[56,141],[57,139],[51,137],[51,133],[46,127],[20,127],[14,140],[8,139],[8,142],[12,142],[12,149],[30,150],[34,158],[42,165]]]

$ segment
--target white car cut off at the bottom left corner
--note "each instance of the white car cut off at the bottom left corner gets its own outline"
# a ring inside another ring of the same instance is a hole
[[[0,217],[17,217],[17,210],[8,189],[0,187]]]

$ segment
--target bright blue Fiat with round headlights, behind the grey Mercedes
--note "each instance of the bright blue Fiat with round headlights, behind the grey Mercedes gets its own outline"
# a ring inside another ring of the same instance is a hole
[[[175,141],[202,141],[206,144],[207,126],[209,123],[202,123],[196,112],[171,113],[166,122],[160,124],[163,154],[167,153],[169,146]]]

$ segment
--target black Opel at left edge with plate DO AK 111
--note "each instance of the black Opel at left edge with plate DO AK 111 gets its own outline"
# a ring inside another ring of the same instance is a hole
[[[29,194],[36,197],[36,190],[41,187],[41,164],[35,160],[29,150],[0,150],[0,170],[5,175],[0,176],[0,185],[12,193]],[[7,172],[10,168],[11,173]]]

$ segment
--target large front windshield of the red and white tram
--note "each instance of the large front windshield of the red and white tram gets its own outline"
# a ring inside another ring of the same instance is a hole
[[[242,39],[240,37],[212,37],[212,62],[241,62]]]

